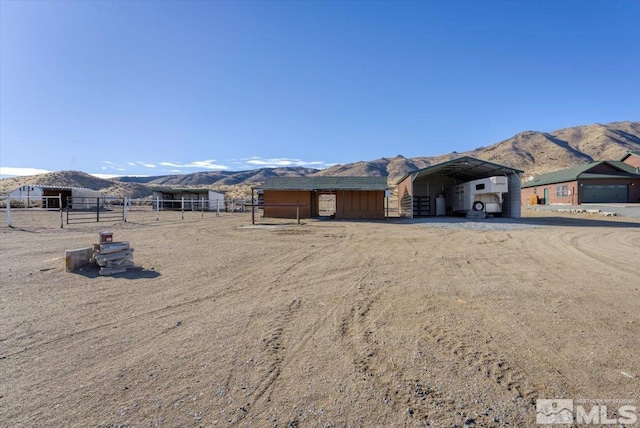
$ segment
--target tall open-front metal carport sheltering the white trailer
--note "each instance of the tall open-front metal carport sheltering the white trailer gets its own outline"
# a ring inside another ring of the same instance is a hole
[[[520,218],[522,171],[481,159],[463,156],[412,171],[398,181],[398,213],[402,217],[436,215],[436,198],[447,189],[467,181],[505,176],[509,192],[504,194],[502,216]],[[444,200],[447,205],[446,198]]]

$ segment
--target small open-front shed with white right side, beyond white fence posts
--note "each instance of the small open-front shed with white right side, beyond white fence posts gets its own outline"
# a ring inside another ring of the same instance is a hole
[[[182,202],[184,199],[184,207]],[[209,189],[155,188],[153,191],[153,207],[164,210],[224,210],[224,193]]]

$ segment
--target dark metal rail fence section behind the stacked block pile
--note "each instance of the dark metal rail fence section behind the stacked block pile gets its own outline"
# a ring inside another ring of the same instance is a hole
[[[70,196],[66,202],[67,224],[127,221],[128,198]]]

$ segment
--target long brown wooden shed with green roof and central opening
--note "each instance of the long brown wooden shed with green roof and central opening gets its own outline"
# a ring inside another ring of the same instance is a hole
[[[265,217],[320,217],[321,202],[332,200],[341,219],[383,219],[386,177],[273,177],[252,190],[262,192]],[[331,215],[331,214],[329,214]]]

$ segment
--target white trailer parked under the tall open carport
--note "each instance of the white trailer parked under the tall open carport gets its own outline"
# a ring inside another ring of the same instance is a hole
[[[450,187],[447,203],[454,214],[469,210],[499,214],[502,213],[502,194],[508,192],[507,177],[481,178]]]

